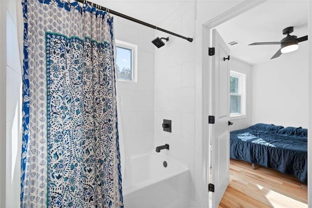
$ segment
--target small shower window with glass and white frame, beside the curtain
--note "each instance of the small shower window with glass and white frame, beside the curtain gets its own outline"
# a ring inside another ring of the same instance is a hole
[[[137,45],[116,40],[116,52],[118,81],[136,82]]]

